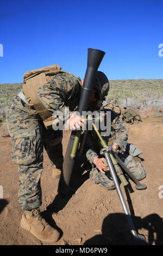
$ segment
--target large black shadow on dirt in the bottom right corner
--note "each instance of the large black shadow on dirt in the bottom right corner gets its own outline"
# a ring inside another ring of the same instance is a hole
[[[134,217],[133,221],[136,230],[141,228],[148,230],[148,243],[135,240],[130,233],[126,216],[116,213],[105,217],[102,234],[86,240],[84,245],[152,245],[153,242],[155,245],[163,244],[163,222],[159,215],[152,214],[143,219]]]

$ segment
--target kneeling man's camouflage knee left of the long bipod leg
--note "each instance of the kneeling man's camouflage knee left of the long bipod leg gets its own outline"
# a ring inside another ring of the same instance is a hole
[[[105,187],[107,190],[115,189],[115,185],[112,181],[110,172],[105,172],[105,174],[103,174],[99,172],[97,168],[92,168],[92,170],[90,171],[90,179],[96,184]]]

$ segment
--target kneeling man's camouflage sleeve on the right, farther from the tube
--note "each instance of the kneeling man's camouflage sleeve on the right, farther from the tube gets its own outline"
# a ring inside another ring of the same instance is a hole
[[[114,140],[114,143],[118,144],[118,146],[121,148],[121,150],[124,152],[126,151],[127,142],[128,142],[128,131],[126,124],[123,122],[123,120],[117,115],[112,120],[112,129],[111,136],[115,133],[116,138]]]

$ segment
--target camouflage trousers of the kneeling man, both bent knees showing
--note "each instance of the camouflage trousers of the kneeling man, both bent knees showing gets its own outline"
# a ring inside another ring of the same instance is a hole
[[[146,177],[145,168],[142,166],[141,160],[139,157],[133,157],[129,161],[127,160],[128,154],[124,154],[120,156],[121,160],[124,162],[124,164],[128,167],[130,172],[134,174],[136,179],[142,180]],[[96,184],[99,184],[103,187],[105,187],[108,190],[114,190],[115,185],[112,181],[110,172],[105,172],[105,174],[99,172],[96,168],[92,168],[90,172],[90,179],[94,181]]]

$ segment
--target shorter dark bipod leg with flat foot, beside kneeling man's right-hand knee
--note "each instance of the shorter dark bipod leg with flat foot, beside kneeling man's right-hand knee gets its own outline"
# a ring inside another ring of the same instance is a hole
[[[117,154],[114,153],[114,151],[111,151],[111,153],[114,155],[115,159],[120,164],[120,166],[124,169],[124,172],[126,172],[129,178],[136,184],[136,190],[145,190],[147,188],[146,184],[141,184],[139,180],[136,179],[136,177],[130,172],[127,166],[123,163],[120,157],[118,157]]]

